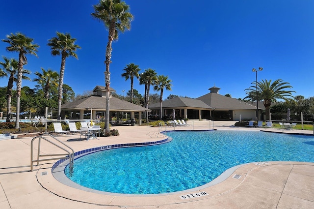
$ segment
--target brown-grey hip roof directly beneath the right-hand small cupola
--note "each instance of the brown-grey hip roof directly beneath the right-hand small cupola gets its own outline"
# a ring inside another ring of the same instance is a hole
[[[204,103],[213,107],[215,109],[222,110],[254,110],[256,106],[237,100],[235,98],[230,98],[228,96],[223,96],[218,93],[208,93],[200,96],[196,99],[202,100]],[[259,109],[262,109],[259,107]]]

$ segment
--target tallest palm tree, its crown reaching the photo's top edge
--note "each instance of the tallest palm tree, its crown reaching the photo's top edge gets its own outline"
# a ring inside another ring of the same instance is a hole
[[[94,5],[94,18],[104,23],[108,31],[108,42],[105,53],[105,89],[106,89],[106,117],[105,117],[105,134],[109,134],[109,96],[110,96],[110,72],[112,41],[118,40],[118,32],[124,32],[131,29],[131,20],[133,16],[129,12],[129,5],[121,0],[100,0]]]

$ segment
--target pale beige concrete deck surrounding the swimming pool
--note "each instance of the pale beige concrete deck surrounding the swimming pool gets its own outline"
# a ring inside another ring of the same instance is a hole
[[[273,131],[277,129],[232,127],[235,121],[215,121],[218,130]],[[208,121],[189,121],[189,126],[167,130],[209,129]],[[75,151],[99,146],[159,141],[166,137],[157,127],[114,126],[120,136],[78,141],[79,134],[57,138]],[[164,131],[165,127],[161,128]],[[313,134],[313,131],[285,130]],[[30,172],[31,138],[0,141],[0,209],[288,209],[314,208],[314,163],[264,162],[240,166],[227,179],[210,187],[168,195],[104,195],[66,186],[53,178],[56,161],[45,161]],[[314,139],[313,139],[314,141]],[[56,149],[43,145],[42,153]],[[47,173],[46,173],[47,172]],[[240,176],[238,179],[235,175]]]

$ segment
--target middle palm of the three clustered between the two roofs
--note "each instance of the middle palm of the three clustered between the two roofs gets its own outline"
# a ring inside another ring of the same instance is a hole
[[[149,104],[149,91],[150,87],[152,85],[152,82],[155,82],[157,80],[157,73],[155,70],[148,68],[145,70],[144,73],[141,74],[141,77],[139,79],[140,84],[145,84],[145,107],[148,108]],[[146,122],[148,122],[148,116],[146,112]]]

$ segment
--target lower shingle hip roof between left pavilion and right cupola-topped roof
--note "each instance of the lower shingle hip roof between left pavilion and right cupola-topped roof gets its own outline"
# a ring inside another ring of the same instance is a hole
[[[149,108],[159,108],[160,103],[150,104]],[[203,109],[213,109],[209,105],[205,104],[201,100],[184,98],[184,97],[175,97],[172,99],[162,101],[163,108],[176,108],[176,107],[194,107],[194,108],[203,108]]]

